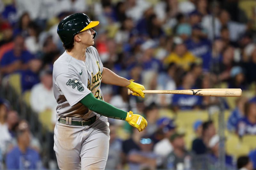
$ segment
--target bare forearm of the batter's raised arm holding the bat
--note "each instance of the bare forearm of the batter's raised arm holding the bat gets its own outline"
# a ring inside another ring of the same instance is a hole
[[[114,73],[113,71],[111,71],[105,67],[103,68],[101,82],[108,84],[108,85],[117,85],[117,86],[121,86],[121,87],[126,87],[127,85],[130,84],[129,80],[118,76],[116,73]]]

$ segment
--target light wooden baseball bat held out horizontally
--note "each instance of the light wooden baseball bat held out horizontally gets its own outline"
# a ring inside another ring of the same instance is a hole
[[[241,89],[143,90],[143,93],[188,94],[196,96],[240,97]],[[133,92],[128,89],[128,94]]]

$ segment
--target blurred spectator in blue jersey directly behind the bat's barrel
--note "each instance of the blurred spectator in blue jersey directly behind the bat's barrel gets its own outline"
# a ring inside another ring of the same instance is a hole
[[[182,84],[177,90],[189,90],[193,88],[195,84],[195,78],[191,72],[185,73],[182,78]],[[202,96],[174,94],[172,97],[172,106],[174,111],[178,109],[187,110],[198,108],[202,104]]]

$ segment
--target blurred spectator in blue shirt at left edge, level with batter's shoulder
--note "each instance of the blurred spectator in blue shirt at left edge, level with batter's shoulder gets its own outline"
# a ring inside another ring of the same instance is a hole
[[[14,39],[14,47],[6,52],[0,61],[0,73],[6,75],[18,70],[28,69],[28,61],[33,58],[24,48],[24,38],[20,35]]]

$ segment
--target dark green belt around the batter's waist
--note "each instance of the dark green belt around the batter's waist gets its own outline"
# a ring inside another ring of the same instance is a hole
[[[66,118],[60,117],[60,119],[58,121],[60,123],[67,124],[67,125],[89,126],[96,121],[96,118],[97,118],[97,116],[95,115],[95,116],[93,116],[89,119],[83,120],[83,121],[75,121],[75,120],[72,120],[72,117],[66,117]]]

